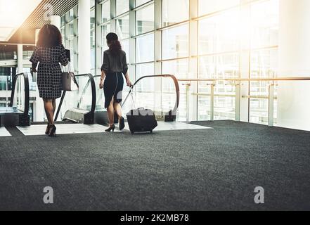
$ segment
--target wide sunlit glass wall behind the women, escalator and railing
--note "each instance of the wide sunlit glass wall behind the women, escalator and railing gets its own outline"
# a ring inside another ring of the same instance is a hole
[[[127,53],[133,81],[155,73],[171,73],[179,79],[276,77],[278,1],[91,1],[91,72],[100,72],[98,62],[102,62],[103,51],[108,49],[105,35],[116,32]],[[78,6],[61,18],[61,32],[66,47],[72,51],[75,72],[78,70],[77,10]],[[178,119],[186,120],[188,98],[186,86],[181,84]],[[210,84],[198,82],[191,86],[194,120],[210,119]],[[234,120],[235,84],[214,84],[214,120]],[[244,85],[249,89],[242,96],[248,101],[249,121],[266,123],[269,83]],[[136,98],[143,107],[160,105],[155,110],[168,110],[174,105],[174,86],[167,79],[143,81],[136,89]],[[157,94],[161,96],[160,103],[155,103]]]

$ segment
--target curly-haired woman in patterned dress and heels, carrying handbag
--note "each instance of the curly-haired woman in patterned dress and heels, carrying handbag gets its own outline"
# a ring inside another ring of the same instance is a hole
[[[37,46],[30,58],[32,71],[37,72],[39,63],[37,84],[39,95],[43,98],[47,120],[45,134],[56,136],[54,113],[56,110],[56,98],[60,98],[62,89],[61,65],[67,65],[65,48],[58,28],[54,25],[44,25],[39,32]]]

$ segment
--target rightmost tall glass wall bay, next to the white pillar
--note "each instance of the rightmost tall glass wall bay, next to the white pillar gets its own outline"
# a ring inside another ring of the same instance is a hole
[[[251,11],[250,78],[275,77],[278,68],[279,1],[253,3]],[[269,82],[250,84],[250,122],[268,123]],[[257,98],[255,98],[257,96]],[[276,101],[275,101],[276,103]],[[276,112],[275,112],[276,123]]]

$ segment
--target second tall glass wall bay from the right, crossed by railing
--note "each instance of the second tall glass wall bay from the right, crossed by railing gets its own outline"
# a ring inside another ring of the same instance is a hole
[[[200,1],[200,4],[201,1]],[[204,1],[204,4],[206,2]],[[212,4],[212,6],[214,6]],[[219,6],[222,6],[219,4]],[[214,6],[215,7],[215,6]],[[217,7],[215,7],[217,8]],[[214,9],[215,9],[214,8]],[[211,10],[211,8],[209,8]],[[200,79],[238,78],[240,65],[240,8],[223,11],[198,21]],[[198,92],[209,94],[209,87],[198,84]],[[199,97],[199,96],[198,96]],[[201,98],[200,98],[201,99]],[[210,115],[209,101],[198,101],[198,120]],[[214,120],[235,118],[235,87],[217,82],[214,87]],[[209,119],[209,118],[207,118]]]

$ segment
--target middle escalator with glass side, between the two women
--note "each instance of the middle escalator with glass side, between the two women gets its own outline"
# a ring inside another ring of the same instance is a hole
[[[79,84],[77,91],[64,91],[55,121],[93,124],[96,106],[96,87],[93,75],[75,75]]]

